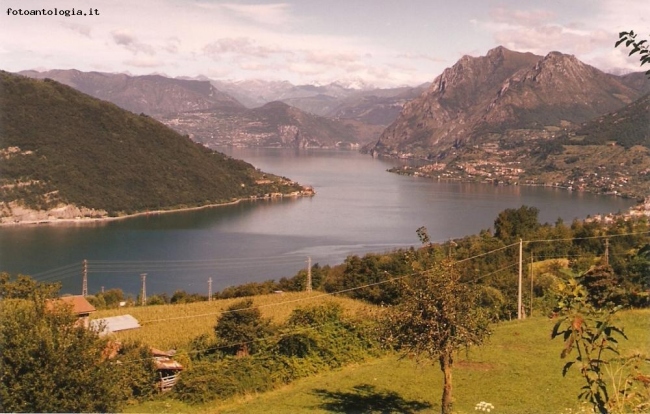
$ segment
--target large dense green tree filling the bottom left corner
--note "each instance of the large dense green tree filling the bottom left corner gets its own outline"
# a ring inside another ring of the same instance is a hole
[[[116,412],[125,399],[106,340],[69,307],[45,299],[0,301],[0,411]]]

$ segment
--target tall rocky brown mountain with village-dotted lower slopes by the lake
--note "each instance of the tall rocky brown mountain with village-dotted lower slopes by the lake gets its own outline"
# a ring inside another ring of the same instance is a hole
[[[500,47],[446,69],[364,150],[429,160],[400,174],[644,197],[648,83]]]

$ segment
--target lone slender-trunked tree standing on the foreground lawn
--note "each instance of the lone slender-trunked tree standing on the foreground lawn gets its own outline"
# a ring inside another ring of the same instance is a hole
[[[451,413],[454,354],[483,343],[490,333],[488,319],[451,260],[434,264],[402,288],[402,302],[389,308],[382,324],[384,343],[403,355],[438,361],[444,375],[442,413]]]

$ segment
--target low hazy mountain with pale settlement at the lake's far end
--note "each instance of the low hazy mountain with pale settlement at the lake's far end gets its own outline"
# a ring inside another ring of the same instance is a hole
[[[161,120],[212,147],[334,148],[368,142],[361,141],[362,126],[308,114],[283,102],[270,102],[254,109],[184,112]],[[374,132],[378,134],[380,130]]]

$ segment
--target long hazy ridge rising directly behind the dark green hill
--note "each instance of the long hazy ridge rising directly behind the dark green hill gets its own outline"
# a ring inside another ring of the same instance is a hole
[[[172,79],[159,75],[80,72],[78,70],[23,71],[21,75],[49,78],[134,113],[160,115],[212,108],[243,108],[235,98],[208,81]]]

